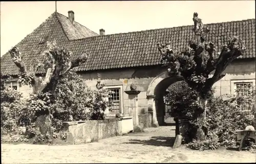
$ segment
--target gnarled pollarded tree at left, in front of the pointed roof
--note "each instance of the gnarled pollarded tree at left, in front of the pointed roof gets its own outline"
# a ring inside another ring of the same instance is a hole
[[[42,134],[51,133],[51,105],[55,103],[55,90],[60,78],[72,68],[84,63],[87,54],[83,53],[78,58],[72,58],[72,52],[66,48],[60,48],[56,42],[47,43],[47,50],[42,52],[42,62],[33,61],[33,65],[27,68],[22,60],[22,54],[17,47],[9,50],[11,58],[19,68],[19,82],[22,85],[30,85],[33,88],[33,98],[30,99],[28,110],[35,113],[37,131]],[[45,77],[37,76],[38,69],[45,69]]]

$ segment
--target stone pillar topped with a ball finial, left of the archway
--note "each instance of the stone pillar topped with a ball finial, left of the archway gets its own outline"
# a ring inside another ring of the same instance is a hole
[[[131,85],[130,91],[124,91],[129,96],[129,115],[133,116],[133,127],[134,132],[141,132],[142,127],[139,125],[139,114],[138,114],[138,94],[140,91],[136,90],[136,86]]]

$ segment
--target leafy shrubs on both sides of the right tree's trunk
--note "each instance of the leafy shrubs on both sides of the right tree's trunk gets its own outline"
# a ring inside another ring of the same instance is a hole
[[[206,141],[199,142],[195,139],[196,134],[196,111],[197,96],[186,83],[179,83],[169,87],[170,94],[167,94],[165,101],[172,106],[172,113],[179,118],[186,118],[189,121],[185,135],[190,142],[187,147],[195,150],[217,149],[220,146],[236,147],[237,130],[245,129],[246,126],[255,126],[255,89],[252,86],[241,88],[244,92],[251,93],[251,96],[225,95],[223,97],[212,97],[208,100],[206,112],[206,126],[208,134]],[[180,92],[182,91],[182,92]],[[237,90],[239,92],[239,90]],[[243,111],[239,106],[251,106],[250,110]],[[253,144],[247,142],[247,146],[253,148]]]

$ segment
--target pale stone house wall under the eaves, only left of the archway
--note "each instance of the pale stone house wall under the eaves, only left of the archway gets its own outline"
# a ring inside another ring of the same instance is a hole
[[[133,83],[141,92],[138,94],[138,113],[147,113],[147,99],[146,92],[151,81],[165,69],[158,67],[137,68],[137,69],[122,69],[122,70],[99,70],[89,73],[81,73],[82,78],[86,79],[86,84],[91,88],[96,88],[97,73],[101,75],[102,83],[106,87],[121,87],[123,93],[121,99],[123,100],[122,113],[124,116],[129,116],[129,98],[124,91],[130,90],[130,85]]]

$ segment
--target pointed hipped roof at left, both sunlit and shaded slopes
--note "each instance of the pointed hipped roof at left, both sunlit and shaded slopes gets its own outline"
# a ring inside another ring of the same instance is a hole
[[[19,48],[24,62],[29,67],[34,62],[33,58],[40,60],[40,52],[46,49],[47,41],[56,40],[59,46],[66,46],[70,40],[92,36],[98,36],[98,34],[77,22],[72,24],[68,17],[54,12],[15,46]],[[11,75],[16,75],[19,72],[19,69],[12,62],[9,52],[1,57],[1,72],[3,74],[10,73]]]

